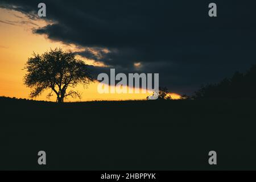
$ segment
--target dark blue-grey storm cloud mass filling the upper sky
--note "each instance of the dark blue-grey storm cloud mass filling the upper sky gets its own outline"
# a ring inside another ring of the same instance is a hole
[[[160,84],[192,93],[255,63],[254,1],[44,1],[52,23],[34,30],[89,49],[77,54],[122,72],[159,73]],[[37,18],[39,1],[2,1],[1,7]],[[13,6],[15,5],[15,6]],[[102,51],[107,48],[109,53]],[[94,72],[109,68],[93,67]]]

